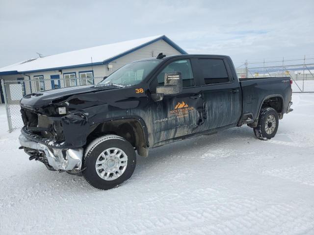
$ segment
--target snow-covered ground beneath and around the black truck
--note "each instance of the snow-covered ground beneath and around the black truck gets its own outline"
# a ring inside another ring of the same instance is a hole
[[[314,234],[314,94],[270,141],[247,126],[138,157],[108,191],[51,172],[18,150],[0,106],[0,234]]]

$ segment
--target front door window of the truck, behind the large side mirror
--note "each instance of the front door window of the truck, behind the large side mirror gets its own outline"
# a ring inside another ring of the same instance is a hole
[[[167,65],[157,76],[158,86],[164,85],[164,76],[166,72],[181,71],[183,87],[194,86],[194,77],[190,60],[177,60]]]

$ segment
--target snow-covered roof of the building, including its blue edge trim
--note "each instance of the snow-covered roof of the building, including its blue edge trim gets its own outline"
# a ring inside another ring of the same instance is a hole
[[[143,47],[160,39],[165,40],[167,43],[175,47],[181,53],[185,52],[183,49],[174,44],[166,36],[159,35],[120,43],[112,43],[98,47],[74,50],[56,55],[39,57],[35,60],[30,59],[27,61],[22,61],[13,65],[0,68],[0,72],[6,71],[26,72],[67,67],[71,68],[90,65],[91,62],[93,63],[93,65],[102,64],[104,62],[108,62],[112,58],[116,58],[119,55],[131,52],[134,49],[137,49],[138,47]]]

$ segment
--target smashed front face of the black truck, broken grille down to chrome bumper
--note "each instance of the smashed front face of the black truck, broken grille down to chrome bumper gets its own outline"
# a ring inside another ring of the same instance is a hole
[[[49,170],[81,174],[83,145],[89,124],[86,114],[76,111],[48,117],[22,107],[25,126],[19,141],[29,160],[44,163]]]

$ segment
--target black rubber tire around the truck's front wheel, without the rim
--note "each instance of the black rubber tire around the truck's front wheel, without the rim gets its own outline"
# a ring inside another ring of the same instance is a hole
[[[96,171],[96,161],[103,151],[113,147],[121,149],[127,155],[127,167],[117,179],[105,180],[101,178]],[[120,136],[106,135],[97,138],[86,147],[82,163],[82,168],[84,169],[86,167],[86,169],[83,170],[82,174],[90,185],[106,190],[117,187],[128,180],[133,174],[135,165],[136,155],[131,143]]]

